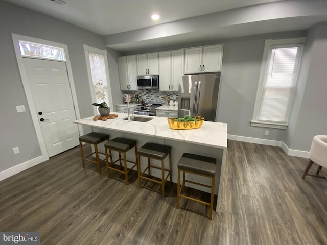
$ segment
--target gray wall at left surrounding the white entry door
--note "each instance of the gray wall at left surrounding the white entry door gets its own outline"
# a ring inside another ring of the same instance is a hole
[[[104,38],[56,18],[0,0],[0,171],[40,156],[40,148],[22,86],[11,34],[68,46],[81,117],[93,114],[83,44],[105,49]],[[17,113],[15,106],[26,112]],[[20,153],[13,154],[12,148]]]

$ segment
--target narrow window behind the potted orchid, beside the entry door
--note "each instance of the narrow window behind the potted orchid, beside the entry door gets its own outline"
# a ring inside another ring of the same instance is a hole
[[[101,103],[96,97],[95,85],[101,82],[106,88],[105,102],[112,108],[111,89],[108,72],[107,52],[105,50],[98,50],[94,47],[84,45],[85,58],[87,63],[90,91],[92,96],[92,103]],[[94,113],[99,114],[98,108],[94,106]]]

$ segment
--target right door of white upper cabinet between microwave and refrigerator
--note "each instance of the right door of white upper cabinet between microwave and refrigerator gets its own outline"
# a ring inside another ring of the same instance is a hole
[[[172,82],[170,90],[178,91],[180,75],[184,75],[184,50],[174,50],[172,51]]]

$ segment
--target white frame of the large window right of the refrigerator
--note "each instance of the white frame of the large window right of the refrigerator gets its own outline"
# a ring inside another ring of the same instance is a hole
[[[305,37],[299,37],[299,38],[290,38],[290,39],[277,39],[272,40],[268,39],[265,41],[265,47],[264,47],[264,53],[262,57],[262,63],[260,68],[260,76],[259,76],[259,84],[258,84],[258,90],[256,91],[255,96],[255,102],[254,102],[254,110],[253,110],[253,116],[251,122],[251,126],[255,127],[265,127],[265,128],[275,128],[275,129],[287,129],[288,127],[288,120],[291,114],[292,105],[294,101],[294,96],[292,98],[292,101],[290,103],[290,110],[287,112],[286,116],[286,122],[280,123],[280,122],[273,122],[273,121],[261,121],[259,120],[259,113],[260,113],[260,106],[261,106],[261,100],[263,96],[263,89],[265,84],[265,74],[267,71],[267,63],[268,63],[268,54],[273,48],[283,47],[285,45],[289,46],[294,44],[295,46],[299,47],[299,65],[298,65],[298,71],[296,74],[295,84],[294,84],[294,93],[296,92],[296,84],[298,79],[298,73],[299,73],[299,67],[301,64],[302,59],[302,53],[303,53],[303,44],[305,43],[306,38]]]

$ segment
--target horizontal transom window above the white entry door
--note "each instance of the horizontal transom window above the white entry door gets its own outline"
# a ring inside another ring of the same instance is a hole
[[[46,46],[43,44],[19,41],[20,54],[22,56],[30,56],[52,60],[65,61],[65,53],[63,48]]]

